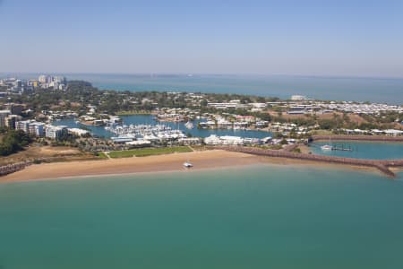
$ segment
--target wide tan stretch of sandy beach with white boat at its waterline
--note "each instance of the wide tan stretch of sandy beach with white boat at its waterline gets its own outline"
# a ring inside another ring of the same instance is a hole
[[[188,160],[193,163],[193,169],[213,169],[259,163],[260,159],[249,154],[218,150],[101,161],[42,163],[4,176],[0,182],[181,170],[184,169],[184,161]]]

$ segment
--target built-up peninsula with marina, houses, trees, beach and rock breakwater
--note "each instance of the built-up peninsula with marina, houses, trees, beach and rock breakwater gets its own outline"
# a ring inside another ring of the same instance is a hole
[[[48,75],[4,78],[0,91],[7,97],[0,100],[0,181],[176,170],[188,159],[195,169],[267,161],[343,164],[373,167],[390,178],[389,168],[403,164],[322,156],[306,147],[328,140],[400,143],[403,108],[397,105],[100,91],[90,82]],[[228,130],[244,135],[223,135]]]

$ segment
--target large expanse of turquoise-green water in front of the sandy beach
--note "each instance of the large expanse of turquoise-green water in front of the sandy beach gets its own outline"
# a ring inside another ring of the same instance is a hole
[[[0,184],[0,268],[402,268],[401,176],[252,166]]]

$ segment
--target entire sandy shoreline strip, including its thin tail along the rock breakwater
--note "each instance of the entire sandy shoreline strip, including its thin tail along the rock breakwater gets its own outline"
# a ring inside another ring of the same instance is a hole
[[[0,183],[180,171],[185,170],[182,164],[187,160],[193,163],[194,168],[192,170],[220,169],[262,164],[332,169],[347,167],[349,169],[377,172],[377,169],[364,166],[264,157],[242,152],[210,150],[102,161],[42,163],[4,176],[0,178]]]

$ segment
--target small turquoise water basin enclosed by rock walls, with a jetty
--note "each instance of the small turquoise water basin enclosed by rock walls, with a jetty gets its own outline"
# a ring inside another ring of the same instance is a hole
[[[328,156],[339,156],[368,160],[403,159],[403,143],[335,141],[331,145],[351,149],[351,152],[322,151],[321,146],[329,142],[311,143],[311,152]]]

